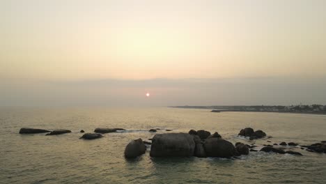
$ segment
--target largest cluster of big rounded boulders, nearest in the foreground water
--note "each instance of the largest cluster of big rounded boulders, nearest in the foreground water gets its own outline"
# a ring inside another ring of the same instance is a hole
[[[127,145],[125,148],[126,158],[135,158],[144,153],[143,144],[140,143],[140,140],[134,140]],[[249,154],[249,148],[246,145],[238,144],[234,146],[231,142],[222,139],[217,132],[211,135],[210,132],[205,130],[190,130],[188,134],[157,134],[153,137],[150,148],[151,157],[231,158],[247,154]]]

